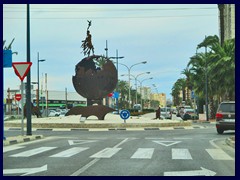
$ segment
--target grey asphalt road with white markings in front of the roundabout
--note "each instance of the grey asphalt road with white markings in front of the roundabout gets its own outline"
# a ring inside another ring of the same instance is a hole
[[[6,134],[14,133],[7,131]],[[41,131],[46,138],[3,148],[4,176],[234,176],[234,131]]]

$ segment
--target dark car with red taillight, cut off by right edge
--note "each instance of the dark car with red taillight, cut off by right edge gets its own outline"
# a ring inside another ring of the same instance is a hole
[[[216,113],[216,128],[218,134],[226,130],[235,130],[235,101],[222,102]]]

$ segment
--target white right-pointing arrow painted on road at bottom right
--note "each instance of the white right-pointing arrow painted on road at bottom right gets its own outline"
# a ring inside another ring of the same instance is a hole
[[[164,176],[214,176],[216,172],[201,167],[201,170],[164,172]]]

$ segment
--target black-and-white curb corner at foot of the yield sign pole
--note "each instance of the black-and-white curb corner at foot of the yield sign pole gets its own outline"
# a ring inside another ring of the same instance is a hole
[[[33,140],[42,139],[42,138],[44,138],[43,135],[9,137],[6,140],[3,140],[3,146],[33,141]]]

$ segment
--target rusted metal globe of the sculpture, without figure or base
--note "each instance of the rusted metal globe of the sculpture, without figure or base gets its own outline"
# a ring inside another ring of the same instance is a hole
[[[113,92],[117,85],[117,70],[112,61],[103,56],[82,59],[75,68],[72,82],[81,96],[99,100]]]

